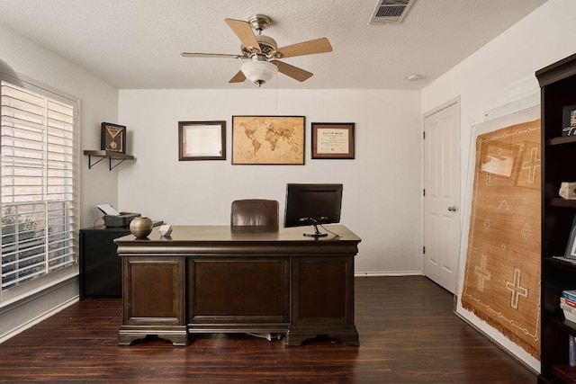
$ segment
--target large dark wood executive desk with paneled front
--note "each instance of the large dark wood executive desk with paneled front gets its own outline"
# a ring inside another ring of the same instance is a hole
[[[122,259],[118,344],[157,335],[186,345],[196,333],[279,333],[301,345],[317,335],[357,345],[354,257],[361,241],[303,237],[307,228],[174,227],[160,237],[114,240]]]

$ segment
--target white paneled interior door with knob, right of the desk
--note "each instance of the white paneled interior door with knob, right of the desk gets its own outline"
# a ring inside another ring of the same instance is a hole
[[[424,274],[454,293],[460,256],[460,103],[424,118]]]

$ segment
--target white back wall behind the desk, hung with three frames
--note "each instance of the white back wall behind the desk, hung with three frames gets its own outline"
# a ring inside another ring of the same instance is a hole
[[[363,238],[356,273],[420,273],[420,100],[415,91],[121,90],[134,163],[118,203],[170,224],[229,224],[230,203],[286,183],[344,183],[341,222]],[[231,165],[232,115],[303,115],[305,165]],[[178,121],[227,121],[225,161],[178,161]],[[355,160],[312,160],[311,122],[355,122]],[[284,208],[281,208],[284,210]]]

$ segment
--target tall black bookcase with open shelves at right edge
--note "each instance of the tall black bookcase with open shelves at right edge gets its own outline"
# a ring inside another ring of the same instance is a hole
[[[542,286],[539,383],[576,381],[569,337],[576,323],[560,308],[563,290],[576,290],[576,264],[555,258],[568,245],[576,201],[559,198],[563,182],[576,181],[576,136],[563,137],[563,108],[576,105],[576,55],[536,72],[542,92]]]

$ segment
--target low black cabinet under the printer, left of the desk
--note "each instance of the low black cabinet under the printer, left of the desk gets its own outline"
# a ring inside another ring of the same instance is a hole
[[[121,296],[121,258],[114,239],[130,235],[129,228],[103,226],[80,229],[80,299]]]

